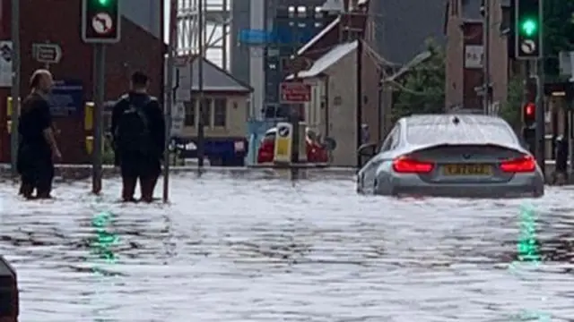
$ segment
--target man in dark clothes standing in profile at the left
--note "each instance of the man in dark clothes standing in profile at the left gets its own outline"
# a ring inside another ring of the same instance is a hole
[[[54,160],[62,157],[52,129],[48,103],[53,84],[48,70],[37,70],[30,77],[30,95],[22,102],[17,170],[22,176],[20,193],[26,199],[33,198],[34,189],[36,198],[51,198]]]

